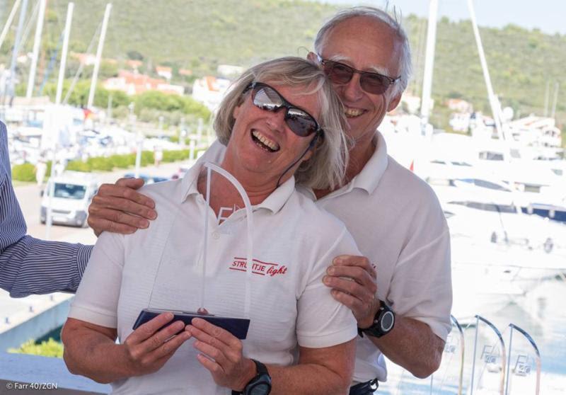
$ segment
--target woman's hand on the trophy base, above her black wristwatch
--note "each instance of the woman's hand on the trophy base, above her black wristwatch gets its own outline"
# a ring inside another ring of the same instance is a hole
[[[243,357],[242,342],[204,319],[192,319],[186,330],[197,339],[193,345],[202,353],[197,358],[212,374],[214,382],[221,387],[243,391],[255,376],[256,369],[253,360]]]

